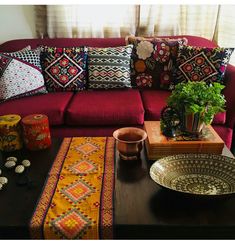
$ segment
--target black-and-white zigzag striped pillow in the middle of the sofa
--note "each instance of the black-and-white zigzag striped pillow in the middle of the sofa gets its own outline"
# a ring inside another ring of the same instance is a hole
[[[89,88],[131,87],[130,58],[132,45],[88,50]]]

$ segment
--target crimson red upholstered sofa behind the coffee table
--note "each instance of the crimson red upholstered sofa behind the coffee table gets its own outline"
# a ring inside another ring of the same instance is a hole
[[[174,36],[182,37],[182,36]],[[188,45],[215,47],[205,38],[184,36]],[[124,38],[80,38],[80,39],[20,39],[0,45],[1,52],[13,52],[31,45],[72,47],[96,46],[114,47],[125,45]],[[235,125],[235,67],[228,65],[224,95],[227,100],[226,113],[215,116],[213,127],[231,148]],[[0,115],[16,113],[22,117],[32,113],[48,115],[51,133],[56,137],[65,136],[110,136],[123,126],[141,127],[144,120],[159,120],[160,112],[166,105],[169,91],[163,90],[105,90],[56,92],[44,95],[9,100],[0,104]]]

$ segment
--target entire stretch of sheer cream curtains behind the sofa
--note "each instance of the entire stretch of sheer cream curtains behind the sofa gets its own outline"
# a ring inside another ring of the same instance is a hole
[[[235,47],[235,5],[36,6],[40,37],[196,35]],[[230,63],[235,64],[235,53]]]

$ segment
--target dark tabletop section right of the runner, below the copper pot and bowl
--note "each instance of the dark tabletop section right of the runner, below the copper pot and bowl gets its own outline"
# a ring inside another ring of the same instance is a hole
[[[233,157],[226,147],[223,155]],[[152,163],[145,152],[139,162],[117,156],[115,238],[235,238],[235,194],[199,198],[163,189],[149,176]]]

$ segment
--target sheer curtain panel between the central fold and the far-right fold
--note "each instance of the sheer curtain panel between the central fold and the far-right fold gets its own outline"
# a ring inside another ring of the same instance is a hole
[[[219,6],[140,6],[140,33],[143,35],[197,35],[212,39]]]

